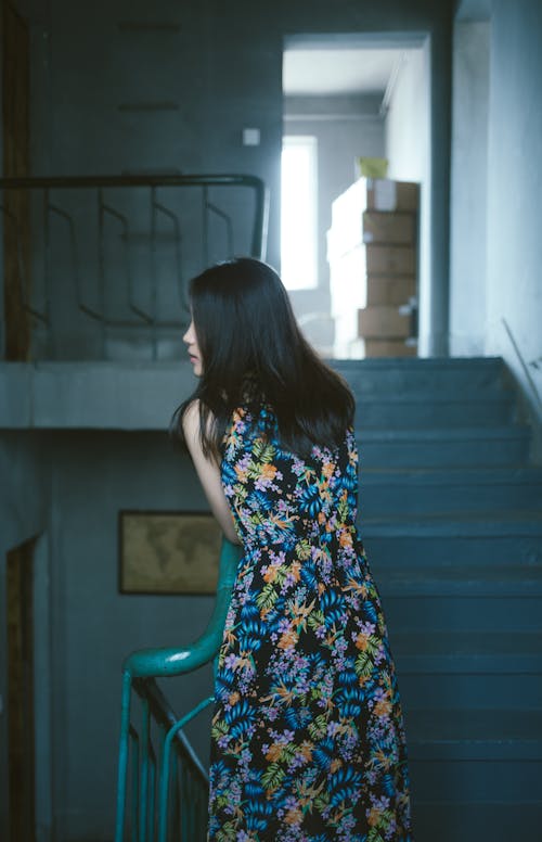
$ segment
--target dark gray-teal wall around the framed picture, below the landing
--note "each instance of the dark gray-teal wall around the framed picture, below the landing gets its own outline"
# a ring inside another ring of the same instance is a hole
[[[211,597],[118,592],[118,511],[206,505],[188,457],[164,433],[56,434],[52,456],[55,838],[109,839],[122,661],[134,649],[195,640],[212,608]],[[209,694],[210,669],[172,682],[186,712]],[[207,728],[198,733],[206,758]]]

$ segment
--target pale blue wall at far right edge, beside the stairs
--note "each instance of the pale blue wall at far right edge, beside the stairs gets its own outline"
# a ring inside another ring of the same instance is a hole
[[[542,7],[491,16],[486,352],[502,354],[542,423]]]

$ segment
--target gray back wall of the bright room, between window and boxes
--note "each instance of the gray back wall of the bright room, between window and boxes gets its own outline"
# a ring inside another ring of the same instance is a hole
[[[322,353],[332,352],[334,332],[328,314],[330,265],[326,232],[332,221],[332,202],[358,177],[360,155],[384,155],[384,124],[377,97],[288,97],[284,103],[284,133],[311,135],[318,143],[318,266],[315,290],[291,292],[294,310],[309,340]]]

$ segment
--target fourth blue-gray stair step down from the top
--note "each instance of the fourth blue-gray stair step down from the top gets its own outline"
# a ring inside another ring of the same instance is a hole
[[[452,511],[542,510],[542,468],[364,469],[363,518]]]

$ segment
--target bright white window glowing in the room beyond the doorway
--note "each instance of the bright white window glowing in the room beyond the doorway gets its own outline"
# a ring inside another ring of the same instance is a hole
[[[282,142],[281,273],[288,290],[318,284],[317,139],[288,135]]]

